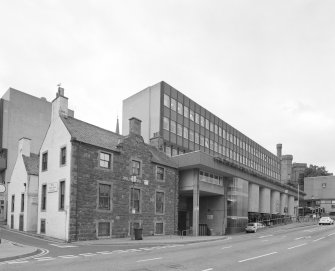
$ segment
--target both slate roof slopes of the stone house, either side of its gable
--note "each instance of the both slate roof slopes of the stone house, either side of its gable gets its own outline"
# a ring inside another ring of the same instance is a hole
[[[119,139],[125,138],[124,136],[75,119],[73,117],[61,116],[61,119],[65,127],[68,129],[71,137],[75,140],[93,146],[120,152],[120,149],[117,148],[117,145],[119,144]],[[146,145],[152,154],[152,162],[172,168],[177,168],[177,164],[172,161],[172,159],[165,153],[159,151],[154,146],[148,144]]]

